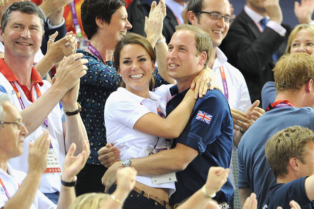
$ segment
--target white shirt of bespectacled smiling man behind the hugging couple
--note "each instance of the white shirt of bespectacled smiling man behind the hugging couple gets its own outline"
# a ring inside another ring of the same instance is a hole
[[[222,92],[225,94],[220,73],[220,67],[223,66],[228,86],[228,102],[230,108],[234,108],[244,112],[252,103],[247,89],[245,79],[242,73],[234,66],[227,62],[226,55],[217,47],[216,59],[214,60],[213,71],[215,72],[215,82],[220,86]],[[235,133],[234,131],[233,133]],[[233,149],[236,150],[236,146],[233,144]],[[233,152],[232,152],[233,154]],[[232,160],[230,162],[229,178],[234,188],[236,184],[232,175],[233,165]]]

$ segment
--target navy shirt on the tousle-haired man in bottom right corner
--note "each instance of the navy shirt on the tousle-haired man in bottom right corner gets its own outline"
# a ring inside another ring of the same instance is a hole
[[[269,187],[269,193],[263,203],[263,209],[291,208],[291,200],[299,203],[302,209],[312,209],[313,201],[309,200],[305,192],[306,177],[298,178],[286,184],[274,184]]]

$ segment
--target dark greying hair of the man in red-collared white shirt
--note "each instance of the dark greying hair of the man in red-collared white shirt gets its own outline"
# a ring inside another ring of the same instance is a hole
[[[1,19],[1,30],[2,30],[2,32],[4,32],[4,29],[7,26],[8,21],[11,18],[12,11],[19,11],[22,13],[37,15],[41,20],[42,36],[44,36],[44,34],[45,34],[44,15],[41,12],[40,8],[36,4],[34,4],[33,2],[30,2],[30,1],[15,2],[15,3],[11,4],[10,6],[8,6],[8,8],[6,8],[6,10],[3,13],[2,19]]]

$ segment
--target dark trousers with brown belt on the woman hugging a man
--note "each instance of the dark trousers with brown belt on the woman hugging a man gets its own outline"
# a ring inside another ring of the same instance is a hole
[[[109,194],[112,194],[116,190],[116,184],[109,189]],[[124,201],[123,209],[164,209],[165,206],[157,203],[155,204],[154,200],[150,200],[147,197],[144,197],[143,194],[137,193],[135,190],[132,190],[127,196],[127,199]]]

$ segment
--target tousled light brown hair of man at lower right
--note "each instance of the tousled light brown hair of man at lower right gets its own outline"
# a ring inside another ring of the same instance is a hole
[[[268,140],[265,156],[276,179],[288,174],[287,166],[291,158],[299,159],[305,164],[308,142],[314,142],[314,132],[300,126],[285,128]]]

